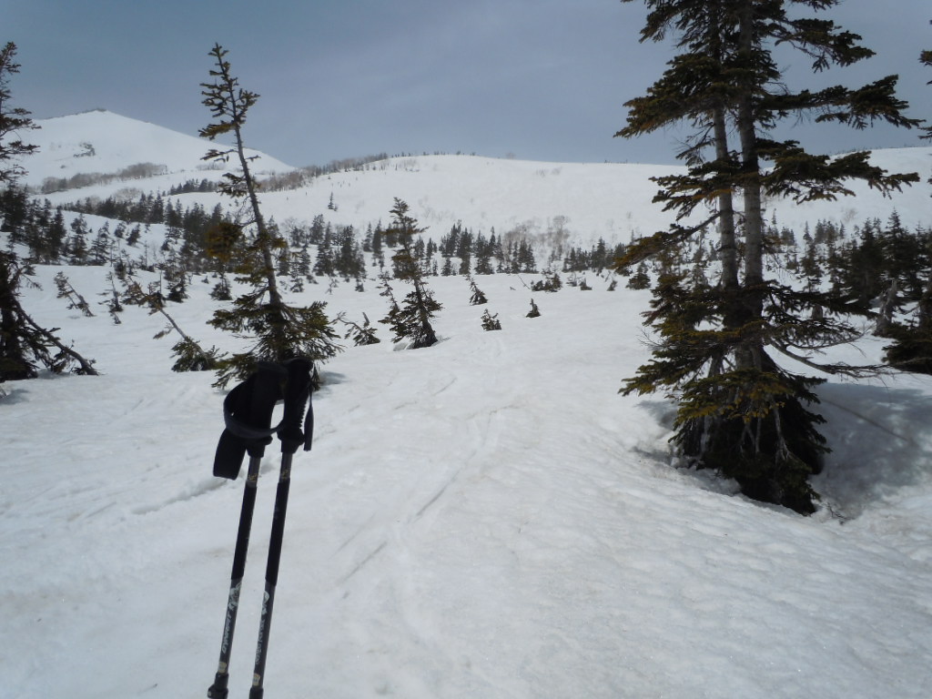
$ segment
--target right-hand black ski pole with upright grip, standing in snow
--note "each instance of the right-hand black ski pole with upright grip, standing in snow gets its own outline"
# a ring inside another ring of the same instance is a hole
[[[268,653],[268,634],[272,624],[272,605],[275,602],[275,587],[279,582],[279,564],[281,563],[281,542],[284,538],[285,512],[288,507],[288,490],[291,486],[292,457],[297,447],[304,445],[310,450],[314,432],[314,413],[310,403],[310,369],[311,363],[303,358],[286,363],[288,379],[285,383],[284,416],[278,436],[281,440],[281,472],[279,484],[275,490],[275,509],[272,513],[272,533],[268,541],[268,560],[266,563],[266,589],[262,599],[262,615],[259,620],[259,639],[255,651],[253,688],[249,699],[262,699],[263,680],[266,674]],[[304,418],[302,431],[301,418],[304,416],[305,404],[308,413]]]

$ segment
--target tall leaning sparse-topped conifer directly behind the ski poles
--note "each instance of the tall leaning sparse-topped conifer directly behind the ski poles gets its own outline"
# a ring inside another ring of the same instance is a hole
[[[215,121],[199,131],[203,138],[214,140],[218,136],[232,136],[233,146],[223,150],[211,149],[205,160],[227,162],[235,158],[238,172],[226,172],[219,185],[221,193],[233,199],[245,199],[251,218],[237,236],[248,228],[251,232],[245,247],[246,257],[240,268],[238,281],[248,283],[251,290],[233,301],[232,308],[214,312],[210,323],[237,336],[249,336],[254,345],[247,351],[222,360],[215,385],[226,386],[230,379],[241,380],[254,371],[261,360],[283,362],[294,357],[322,361],[333,357],[340,349],[334,341],[336,332],[324,313],[321,301],[306,308],[287,305],[275,277],[274,252],[285,242],[272,226],[268,226],[259,206],[258,185],[250,171],[253,157],[246,155],[242,127],[249,109],[259,98],[254,92],[240,88],[239,79],[230,71],[227,51],[214,45],[210,55],[215,68],[210,75],[213,81],[201,83],[203,103],[210,109]]]

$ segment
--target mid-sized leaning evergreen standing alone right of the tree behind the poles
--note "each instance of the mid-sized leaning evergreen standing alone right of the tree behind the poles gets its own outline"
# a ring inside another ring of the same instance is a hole
[[[391,256],[394,276],[411,284],[412,291],[404,297],[401,305],[391,296],[392,308],[381,322],[391,327],[395,334],[394,342],[407,338],[411,340],[411,349],[419,349],[431,347],[437,342],[431,319],[443,307],[433,298],[414,253],[414,237],[425,229],[418,227],[418,221],[408,215],[408,209],[404,201],[395,198],[391,209],[391,226],[386,236],[398,244],[397,252]]]

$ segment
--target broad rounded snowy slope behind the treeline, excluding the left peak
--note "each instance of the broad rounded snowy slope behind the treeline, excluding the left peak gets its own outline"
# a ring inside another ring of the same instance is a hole
[[[854,183],[855,197],[796,204],[766,202],[768,221],[794,228],[800,236],[808,222],[826,220],[848,230],[869,218],[886,221],[897,210],[905,226],[927,226],[932,189],[932,148],[878,151],[873,161],[888,171],[918,171],[922,185],[904,188],[885,199],[867,185]],[[669,212],[651,203],[657,185],[651,177],[682,171],[662,165],[628,163],[541,163],[472,156],[391,158],[368,171],[340,172],[291,192],[267,194],[281,221],[309,221],[323,213],[327,220],[363,227],[387,222],[391,197],[404,199],[422,225],[438,240],[458,221],[488,235],[516,231],[553,238],[562,228],[571,243],[591,245],[599,238],[628,242],[632,237],[666,229]],[[331,195],[336,212],[327,209]],[[198,197],[199,195],[191,195]],[[705,216],[697,212],[696,217]]]

